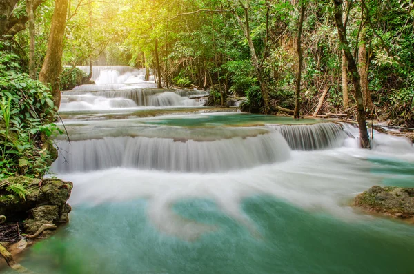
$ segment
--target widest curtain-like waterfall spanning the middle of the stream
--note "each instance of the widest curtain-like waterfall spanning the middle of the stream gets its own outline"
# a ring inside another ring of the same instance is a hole
[[[215,141],[176,141],[170,138],[103,137],[59,143],[55,172],[102,170],[115,167],[177,172],[220,172],[282,162],[290,157],[277,132]]]

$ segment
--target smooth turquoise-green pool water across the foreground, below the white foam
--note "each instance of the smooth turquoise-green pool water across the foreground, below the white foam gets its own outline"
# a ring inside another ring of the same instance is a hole
[[[304,211],[273,197],[242,203],[259,237],[213,202],[183,200],[181,216],[217,231],[193,242],[162,235],[147,202],[79,206],[59,235],[22,264],[39,273],[412,273],[414,229],[385,219],[354,223]]]

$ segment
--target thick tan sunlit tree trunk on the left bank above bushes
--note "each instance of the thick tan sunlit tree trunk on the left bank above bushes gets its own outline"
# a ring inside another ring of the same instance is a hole
[[[59,108],[61,100],[59,75],[62,69],[63,35],[65,34],[67,11],[68,0],[55,0],[48,50],[39,73],[39,80],[45,84],[50,84],[53,102],[57,108]]]

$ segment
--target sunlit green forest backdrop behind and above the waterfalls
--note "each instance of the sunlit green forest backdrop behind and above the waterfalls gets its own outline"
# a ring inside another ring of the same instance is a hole
[[[8,41],[3,50],[19,55],[21,68],[26,69],[29,1],[14,2],[6,16],[8,23],[0,28]],[[55,1],[30,2],[38,74],[48,50]],[[58,2],[68,7],[64,66],[152,68],[161,87],[209,88],[210,104],[223,106],[230,99],[246,98],[242,106],[246,111],[292,114],[288,110],[300,102],[302,116],[354,112],[358,88],[347,60],[352,58],[364,116],[414,126],[414,4],[410,0]],[[343,27],[339,32],[338,12]],[[343,31],[346,43],[339,39]]]

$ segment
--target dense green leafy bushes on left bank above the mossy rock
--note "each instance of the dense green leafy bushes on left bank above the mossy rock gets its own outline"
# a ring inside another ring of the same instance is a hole
[[[55,107],[48,88],[17,72],[17,57],[0,52],[0,177],[43,176],[52,162]],[[51,149],[51,148],[50,148]]]

